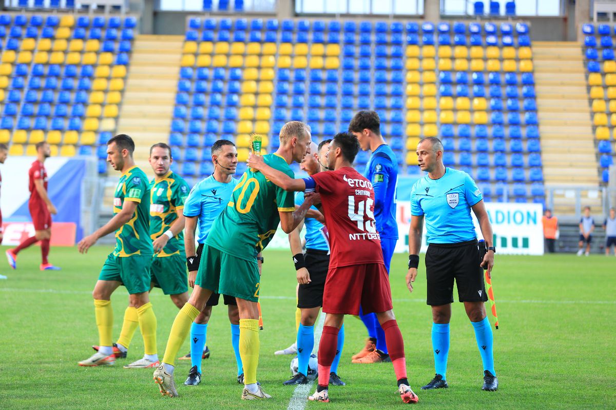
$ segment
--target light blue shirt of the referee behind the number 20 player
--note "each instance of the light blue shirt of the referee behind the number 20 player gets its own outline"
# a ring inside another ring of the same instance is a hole
[[[197,243],[204,243],[214,219],[229,203],[237,179],[232,178],[227,184],[218,182],[214,175],[201,179],[190,190],[184,202],[184,216],[198,216]]]

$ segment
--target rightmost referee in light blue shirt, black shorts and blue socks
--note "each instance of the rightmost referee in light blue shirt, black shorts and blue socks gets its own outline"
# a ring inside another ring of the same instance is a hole
[[[482,390],[493,392],[498,388],[492,355],[492,328],[485,314],[488,300],[482,267],[490,275],[494,266],[492,226],[485,211],[483,195],[472,178],[464,171],[445,168],[443,144],[438,138],[419,141],[417,159],[422,171],[428,175],[413,185],[411,192],[411,227],[408,232],[407,286],[417,276],[419,248],[424,219],[428,236],[426,252],[426,282],[428,304],[432,306],[432,349],[434,350],[434,379],[422,390],[447,388],[447,355],[449,353],[449,320],[452,317],[453,280],[458,297],[475,330],[477,346],[484,364]],[[471,218],[477,216],[481,234],[488,251],[480,261],[477,236]]]

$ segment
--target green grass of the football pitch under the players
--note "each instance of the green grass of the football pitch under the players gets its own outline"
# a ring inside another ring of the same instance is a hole
[[[3,251],[3,250],[2,250]],[[97,344],[91,290],[110,247],[96,246],[87,255],[75,248],[54,248],[51,261],[60,272],[40,272],[39,248],[20,254],[16,271],[2,263],[9,280],[0,282],[0,408],[2,409],[285,409],[293,388],[282,386],[291,357],[274,350],[295,337],[295,275],[285,251],[266,251],[261,295],[265,329],[261,331],[259,380],[274,399],[240,400],[235,358],[224,306],[214,309],[208,327],[212,356],[203,365],[198,387],[184,387],[190,364],[180,361],[178,398],[162,398],[152,371],[126,370],[123,360],[112,368],[80,368]],[[415,291],[404,283],[406,256],[396,254],[391,285],[394,311],[405,340],[408,379],[422,409],[614,409],[616,408],[616,258],[573,255],[503,256],[497,254],[493,285],[500,329],[495,331],[498,392],[480,391],[482,366],[472,326],[461,304],[454,305],[447,371],[450,388],[421,392],[434,374],[431,314],[425,304],[421,270]],[[275,298],[282,296],[284,298]],[[128,295],[113,295],[114,337],[120,333]],[[152,293],[162,355],[177,308],[160,290]],[[490,320],[493,318],[490,316]],[[306,408],[399,408],[395,377],[389,364],[351,365],[363,346],[362,323],[347,317],[346,345],[339,374],[346,387],[330,389],[331,403]],[[180,353],[188,352],[185,342]],[[136,333],[128,360],[143,353]]]

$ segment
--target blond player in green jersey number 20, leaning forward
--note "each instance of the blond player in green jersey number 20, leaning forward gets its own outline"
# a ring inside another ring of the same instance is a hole
[[[310,128],[291,121],[280,130],[280,148],[264,156],[270,166],[294,175],[291,162],[301,162],[310,152]],[[171,328],[163,364],[154,372],[154,380],[163,395],[177,396],[173,380],[177,351],[186,339],[190,326],[213,293],[235,296],[240,310],[240,356],[244,368],[244,389],[241,398],[270,398],[257,385],[259,362],[259,297],[260,266],[257,257],[270,242],[278,223],[287,234],[306,216],[313,203],[308,195],[295,209],[294,195],[286,192],[259,172],[246,170],[235,186],[231,199],[214,221],[203,246],[195,280],[195,290],[180,310]]]

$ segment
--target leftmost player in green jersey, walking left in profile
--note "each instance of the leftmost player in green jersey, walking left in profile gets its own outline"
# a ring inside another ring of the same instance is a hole
[[[93,234],[79,241],[80,253],[87,250],[101,237],[116,231],[116,247],[107,257],[94,286],[92,296],[99,328],[99,346],[92,357],[80,361],[80,366],[110,366],[118,357],[126,357],[126,347],[111,343],[113,310],[111,294],[120,285],[129,293],[129,306],[125,316],[137,311],[137,321],[144,337],[145,355],[124,367],[144,368],[158,366],[156,354],[156,316],[150,303],[150,265],[152,240],[150,240],[150,187],[144,171],[136,167],[132,158],[135,143],[128,135],[116,135],[107,141],[107,162],[121,171],[120,181],[113,198],[113,218]]]

